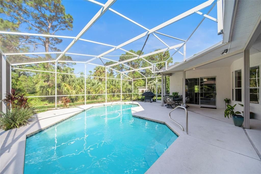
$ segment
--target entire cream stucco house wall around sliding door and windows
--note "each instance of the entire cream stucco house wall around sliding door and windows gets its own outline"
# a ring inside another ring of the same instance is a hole
[[[227,58],[229,59],[229,57]],[[259,66],[261,68],[261,53],[250,55],[250,67]],[[209,77],[216,76],[217,83],[217,108],[225,108],[224,98],[231,99],[231,105],[236,105],[235,111],[243,111],[243,108],[238,105],[244,104],[244,95],[242,93],[242,102],[232,100],[232,72],[235,76],[235,71],[241,69],[242,74],[242,92],[244,91],[244,67],[243,67],[243,57],[235,60],[230,67],[221,68],[210,68],[210,69],[199,69],[186,72],[186,78],[196,78],[196,77]],[[182,74],[183,72],[172,73],[170,76],[170,94],[172,92],[179,92],[182,94]],[[235,81],[235,77],[233,77]],[[235,85],[235,82],[233,82]],[[261,92],[261,89],[259,89]],[[235,94],[235,91],[234,91]],[[234,95],[235,97],[235,95]],[[260,103],[250,103],[250,111],[254,112],[254,118],[261,120],[261,104]]]

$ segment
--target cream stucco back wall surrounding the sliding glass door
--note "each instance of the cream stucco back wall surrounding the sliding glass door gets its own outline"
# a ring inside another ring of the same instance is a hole
[[[186,78],[216,76],[217,108],[225,108],[224,98],[230,98],[230,67],[199,69],[186,72]],[[170,76],[170,94],[182,94],[182,72]]]

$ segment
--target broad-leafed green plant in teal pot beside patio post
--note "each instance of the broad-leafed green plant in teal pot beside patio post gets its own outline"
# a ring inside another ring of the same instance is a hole
[[[229,118],[229,115],[230,115],[230,117],[233,116],[234,125],[242,126],[242,124],[244,122],[244,117],[242,115],[237,115],[237,114],[241,114],[239,111],[234,112],[235,106],[236,106],[236,104],[234,106],[227,105],[227,109],[225,110],[225,118],[226,117]]]

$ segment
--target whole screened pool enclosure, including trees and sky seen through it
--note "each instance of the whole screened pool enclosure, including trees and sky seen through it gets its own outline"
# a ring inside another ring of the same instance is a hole
[[[80,16],[73,12],[71,16],[68,10],[57,15],[54,2],[46,2],[51,9],[43,4],[16,7],[12,3],[4,2],[6,11],[0,13],[1,54],[10,65],[10,89],[25,94],[39,109],[60,107],[63,96],[74,105],[138,100],[138,87],[152,91],[160,100],[169,93],[170,74],[158,71],[200,51],[189,51],[189,47],[208,47],[202,44],[208,38],[193,37],[198,28],[213,26],[211,34],[217,39],[223,33],[222,1],[216,0],[188,5],[182,9],[185,12],[177,10],[176,16],[168,16],[159,25],[150,21],[155,27],[148,28],[124,15],[131,11],[124,1],[79,1],[75,10]],[[69,2],[64,3],[62,10],[68,8]],[[9,8],[14,9],[10,12]],[[147,20],[157,14],[143,15]],[[143,17],[137,21],[146,23]],[[73,25],[77,27],[72,29]]]

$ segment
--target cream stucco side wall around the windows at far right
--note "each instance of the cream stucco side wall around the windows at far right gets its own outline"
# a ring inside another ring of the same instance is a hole
[[[250,67],[253,67],[253,66],[259,66],[259,68],[261,68],[261,53],[250,55]],[[243,57],[241,59],[234,61],[231,64],[231,66],[230,66],[230,80],[232,80],[232,72],[239,70],[239,69],[241,69],[241,71],[242,71],[242,91],[243,91],[244,87],[245,87],[245,85],[243,85],[244,84]],[[231,91],[232,91],[232,81],[230,83],[230,86],[231,86]],[[259,88],[259,91],[261,91],[260,88]],[[230,98],[232,98],[232,92],[231,92]],[[244,105],[243,101],[244,101],[244,95],[242,95],[242,102],[232,100],[232,102],[231,102],[232,105],[237,104],[236,107],[235,107],[235,111],[239,111],[239,112],[243,111],[243,108],[238,105],[238,103]],[[250,103],[250,111],[254,113],[255,119],[261,120],[261,104],[260,103]]]

